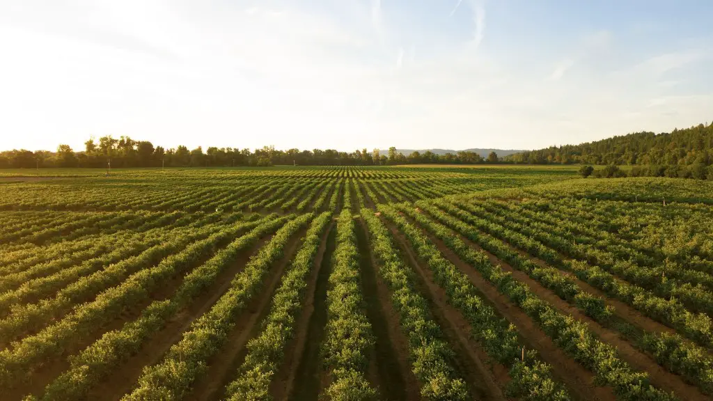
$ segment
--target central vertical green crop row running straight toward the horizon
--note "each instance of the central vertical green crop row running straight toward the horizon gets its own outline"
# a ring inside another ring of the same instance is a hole
[[[359,274],[359,250],[352,212],[337,219],[337,246],[327,290],[327,325],[322,357],[331,382],[321,397],[333,401],[374,400],[376,389],[365,374],[374,348],[371,323],[364,313]]]

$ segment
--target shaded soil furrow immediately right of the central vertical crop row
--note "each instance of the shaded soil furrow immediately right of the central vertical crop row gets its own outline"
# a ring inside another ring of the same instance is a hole
[[[408,340],[399,328],[399,315],[391,307],[391,294],[376,273],[376,259],[371,253],[364,221],[356,228],[361,267],[361,288],[366,303],[366,316],[376,342],[374,382],[383,400],[419,400],[419,386],[409,364]]]

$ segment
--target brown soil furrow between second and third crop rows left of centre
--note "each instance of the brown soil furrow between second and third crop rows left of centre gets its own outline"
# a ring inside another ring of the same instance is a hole
[[[230,281],[242,271],[252,255],[272,238],[268,235],[257,241],[255,247],[244,251],[229,268],[218,275],[215,283],[207,288],[200,297],[194,300],[188,308],[181,310],[164,326],[163,330],[155,333],[148,342],[145,342],[138,354],[133,355],[111,374],[111,377],[96,386],[89,393],[90,400],[118,400],[131,388],[141,375],[144,366],[155,365],[172,345],[179,342],[183,333],[190,328],[194,320],[207,312],[215,301],[230,288]]]

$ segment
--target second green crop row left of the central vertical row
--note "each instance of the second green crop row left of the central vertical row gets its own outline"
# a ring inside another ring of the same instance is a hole
[[[170,347],[163,360],[144,368],[135,389],[122,400],[183,398],[196,378],[205,373],[208,358],[225,342],[235,326],[237,314],[262,290],[270,268],[284,256],[289,238],[312,218],[312,213],[299,215],[277,230],[270,242],[235,276],[227,292],[190,325],[180,342]]]

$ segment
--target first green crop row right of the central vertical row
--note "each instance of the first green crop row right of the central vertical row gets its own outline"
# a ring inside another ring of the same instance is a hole
[[[468,387],[451,366],[453,350],[444,341],[429,305],[415,288],[414,272],[404,265],[384,223],[374,211],[361,209],[369,229],[369,246],[379,260],[379,275],[391,290],[391,303],[399,313],[401,333],[409,340],[414,375],[424,400],[469,400]]]

